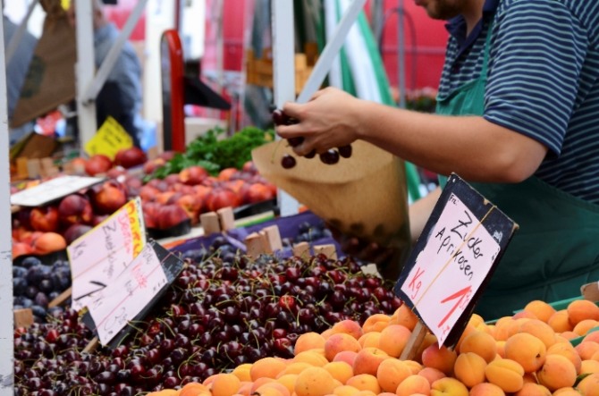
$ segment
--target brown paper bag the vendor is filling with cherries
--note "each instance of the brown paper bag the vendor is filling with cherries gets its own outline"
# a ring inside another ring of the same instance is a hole
[[[292,154],[285,140],[252,152],[267,181],[296,198],[340,231],[374,240],[382,246],[409,250],[408,189],[405,167],[397,156],[358,140],[350,158],[323,164],[318,157]],[[297,164],[284,169],[285,154]]]

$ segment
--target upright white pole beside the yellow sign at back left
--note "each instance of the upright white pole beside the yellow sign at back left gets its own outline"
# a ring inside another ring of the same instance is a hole
[[[77,87],[77,115],[81,151],[97,131],[96,102],[86,100],[86,88],[94,81],[96,62],[94,61],[93,10],[89,0],[77,2],[77,64],[75,66]],[[81,153],[83,154],[83,153]]]

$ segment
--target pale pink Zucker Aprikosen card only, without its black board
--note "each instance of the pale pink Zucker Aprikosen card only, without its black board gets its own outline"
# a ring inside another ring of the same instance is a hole
[[[455,194],[429,234],[401,291],[443,341],[491,270],[499,244]]]

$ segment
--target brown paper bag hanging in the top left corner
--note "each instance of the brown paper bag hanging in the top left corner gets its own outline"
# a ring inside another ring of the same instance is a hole
[[[41,2],[46,11],[30,69],[14,109],[11,127],[35,120],[75,97],[75,30],[69,24],[60,0]]]

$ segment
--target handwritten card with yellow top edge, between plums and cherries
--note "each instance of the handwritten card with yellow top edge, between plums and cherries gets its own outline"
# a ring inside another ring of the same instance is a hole
[[[72,308],[81,309],[127,270],[146,245],[139,198],[127,202],[67,247],[72,273]]]

